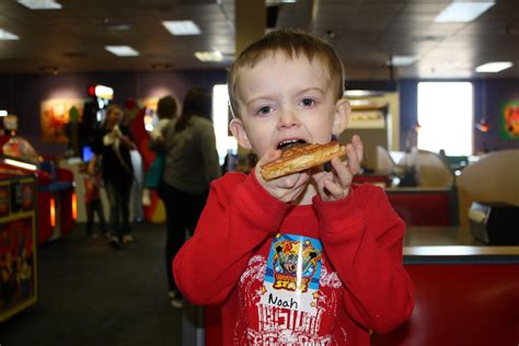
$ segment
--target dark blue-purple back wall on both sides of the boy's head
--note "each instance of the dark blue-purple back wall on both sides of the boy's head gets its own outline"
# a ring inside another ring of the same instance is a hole
[[[92,72],[58,76],[2,74],[0,76],[0,108],[19,116],[19,134],[26,137],[41,154],[60,155],[65,145],[53,145],[41,140],[39,105],[49,99],[88,99],[86,86],[92,83],[109,85],[115,91],[115,102],[123,104],[128,99],[161,97],[168,93],[182,100],[192,86],[211,89],[226,83],[224,70],[161,71],[161,72]],[[478,122],[485,103],[488,132],[474,128],[474,149],[499,150],[519,148],[519,140],[505,140],[500,136],[503,103],[519,101],[519,79],[473,80],[474,119]],[[406,147],[405,134],[416,124],[418,80],[349,81],[347,89],[397,90],[401,101],[401,150]],[[483,91],[486,94],[483,102]],[[416,138],[412,138],[415,142]]]

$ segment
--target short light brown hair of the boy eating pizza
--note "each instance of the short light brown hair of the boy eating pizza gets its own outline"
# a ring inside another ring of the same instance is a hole
[[[325,67],[335,88],[336,100],[344,95],[344,66],[333,47],[321,38],[301,31],[278,30],[256,41],[243,50],[232,64],[228,76],[230,107],[233,116],[238,116],[235,86],[239,71],[243,68],[254,68],[265,57],[277,51],[293,59],[304,56],[309,61],[318,58]]]

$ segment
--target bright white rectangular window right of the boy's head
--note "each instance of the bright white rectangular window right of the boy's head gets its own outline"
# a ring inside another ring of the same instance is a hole
[[[473,90],[470,82],[418,83],[418,149],[448,155],[473,152]]]

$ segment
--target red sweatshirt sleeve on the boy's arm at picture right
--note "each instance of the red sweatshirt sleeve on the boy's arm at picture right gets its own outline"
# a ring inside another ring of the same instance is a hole
[[[380,187],[351,189],[338,201],[314,197],[323,247],[344,285],[354,320],[387,333],[408,319],[413,284],[403,266],[403,221]],[[365,193],[365,194],[362,194]]]

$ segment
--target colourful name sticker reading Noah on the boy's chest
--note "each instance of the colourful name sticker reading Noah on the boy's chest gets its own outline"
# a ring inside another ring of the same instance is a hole
[[[268,255],[261,302],[315,316],[321,254],[319,240],[277,234]]]

